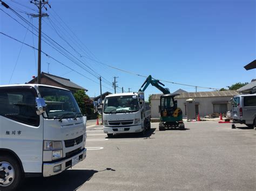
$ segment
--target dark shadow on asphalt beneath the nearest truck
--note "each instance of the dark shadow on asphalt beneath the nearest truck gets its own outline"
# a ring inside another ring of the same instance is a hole
[[[103,171],[116,170],[106,168]],[[86,181],[89,181],[95,173],[103,171],[70,169],[48,178],[26,178],[19,190],[77,190]]]

